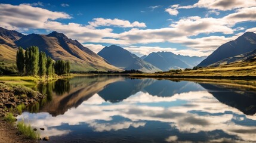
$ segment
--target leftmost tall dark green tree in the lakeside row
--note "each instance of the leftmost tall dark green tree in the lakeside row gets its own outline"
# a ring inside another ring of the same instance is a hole
[[[23,52],[23,48],[18,47],[18,51],[16,54],[16,65],[18,70],[18,75],[24,75],[24,68],[25,68],[25,55]]]

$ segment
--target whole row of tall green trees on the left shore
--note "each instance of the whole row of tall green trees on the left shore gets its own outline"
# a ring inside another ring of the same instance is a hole
[[[20,76],[54,76],[54,74],[69,74],[69,61],[54,60],[45,54],[39,52],[37,46],[30,46],[24,52],[23,48],[19,47],[16,55],[16,64],[18,75]]]

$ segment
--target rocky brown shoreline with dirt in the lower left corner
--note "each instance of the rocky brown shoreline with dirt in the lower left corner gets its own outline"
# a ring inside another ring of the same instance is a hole
[[[30,138],[21,133],[16,127],[18,123],[16,117],[28,105],[36,104],[46,97],[26,86],[0,83],[0,125],[2,126],[0,139],[4,142],[39,142],[39,138]],[[8,120],[10,116],[12,120]]]

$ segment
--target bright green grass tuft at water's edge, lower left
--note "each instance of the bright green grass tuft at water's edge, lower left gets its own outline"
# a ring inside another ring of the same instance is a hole
[[[23,133],[23,135],[32,138],[32,139],[39,139],[40,138],[40,133],[36,132],[32,129],[30,124],[26,124],[24,120],[19,121],[17,123],[17,129]]]

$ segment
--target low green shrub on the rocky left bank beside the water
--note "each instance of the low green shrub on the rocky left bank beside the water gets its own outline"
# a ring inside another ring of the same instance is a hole
[[[35,91],[33,91],[30,88],[27,88],[26,86],[20,86],[20,85],[14,86],[13,91],[14,91],[14,94],[16,95],[26,94],[27,97],[36,97],[37,95]]]

